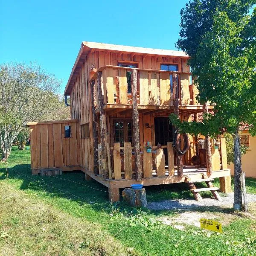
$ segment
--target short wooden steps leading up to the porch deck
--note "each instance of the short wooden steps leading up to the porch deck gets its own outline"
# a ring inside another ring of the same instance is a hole
[[[203,201],[203,198],[201,197],[199,192],[211,191],[212,195],[214,196],[215,199],[217,199],[218,201],[222,201],[222,199],[217,191],[217,190],[219,190],[219,188],[214,187],[212,184],[213,180],[214,179],[212,179],[212,178],[204,179],[204,177],[202,177],[201,180],[189,180],[189,177],[186,177],[185,182],[188,184],[190,191],[193,193],[193,195],[195,197],[195,200]],[[205,182],[207,184],[207,188],[197,189],[195,186],[195,183],[198,183],[198,182]]]

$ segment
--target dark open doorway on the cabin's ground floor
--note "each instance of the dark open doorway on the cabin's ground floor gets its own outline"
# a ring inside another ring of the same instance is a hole
[[[154,118],[155,145],[160,143],[162,146],[167,145],[167,142],[172,142],[172,123],[169,122],[169,117]],[[163,148],[168,164],[167,148]]]

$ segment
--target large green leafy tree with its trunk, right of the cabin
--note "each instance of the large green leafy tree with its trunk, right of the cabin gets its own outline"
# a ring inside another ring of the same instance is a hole
[[[234,134],[235,202],[241,209],[240,124],[256,134],[255,0],[190,0],[181,10],[177,47],[185,51],[201,104],[215,104],[203,122],[172,122],[183,132],[217,136]]]

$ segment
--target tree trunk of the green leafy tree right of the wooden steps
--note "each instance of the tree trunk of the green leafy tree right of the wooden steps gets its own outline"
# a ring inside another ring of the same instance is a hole
[[[239,128],[234,137],[234,209],[242,209],[242,163],[241,163],[241,151],[240,151],[240,139]]]

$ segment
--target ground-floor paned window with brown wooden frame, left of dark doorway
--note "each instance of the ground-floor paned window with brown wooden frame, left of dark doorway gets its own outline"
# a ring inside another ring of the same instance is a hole
[[[124,142],[133,145],[133,130],[131,119],[114,119],[114,142],[124,146]]]

